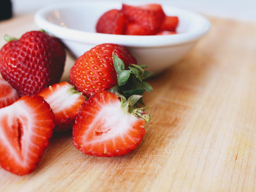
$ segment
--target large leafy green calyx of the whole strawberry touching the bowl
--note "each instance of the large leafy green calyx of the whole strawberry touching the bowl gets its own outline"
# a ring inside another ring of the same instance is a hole
[[[113,64],[117,74],[118,85],[109,91],[116,91],[128,99],[130,96],[142,95],[145,91],[150,92],[152,90],[151,85],[144,81],[152,74],[152,72],[144,70],[147,68],[146,65],[130,64],[125,69],[124,62],[114,52]],[[143,104],[142,98],[139,98],[137,102]]]

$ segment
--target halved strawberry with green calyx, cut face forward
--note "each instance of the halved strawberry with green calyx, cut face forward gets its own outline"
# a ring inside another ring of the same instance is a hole
[[[90,97],[73,126],[75,147],[100,157],[120,156],[137,148],[145,134],[143,125],[150,120],[142,109],[132,107],[140,97],[134,95],[126,101],[107,90]]]

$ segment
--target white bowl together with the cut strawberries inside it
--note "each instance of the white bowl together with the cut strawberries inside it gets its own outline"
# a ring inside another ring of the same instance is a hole
[[[102,43],[120,44],[154,75],[180,61],[210,29],[194,12],[138,2],[70,2],[35,14],[35,23],[78,58]]]

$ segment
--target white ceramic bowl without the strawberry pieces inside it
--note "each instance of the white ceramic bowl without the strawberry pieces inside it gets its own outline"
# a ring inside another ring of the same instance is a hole
[[[145,3],[127,3],[139,5]],[[110,35],[95,32],[99,17],[110,9],[121,9],[121,2],[70,2],[52,5],[35,14],[36,25],[58,37],[78,58],[98,44],[115,43],[125,46],[138,64],[158,74],[180,61],[210,29],[210,23],[201,15],[163,5],[166,15],[179,17],[177,35]]]

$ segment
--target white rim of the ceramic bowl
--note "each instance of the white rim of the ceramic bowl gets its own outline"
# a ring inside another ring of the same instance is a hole
[[[79,43],[86,43],[86,44],[102,44],[102,43],[108,43],[111,41],[111,43],[116,44],[122,44],[124,46],[129,47],[163,47],[163,46],[172,46],[177,44],[186,44],[193,41],[197,41],[202,36],[206,35],[210,28],[211,23],[209,20],[196,13],[187,11],[185,9],[176,8],[170,5],[166,5],[164,3],[159,3],[163,7],[169,7],[171,9],[174,9],[181,14],[191,15],[192,17],[196,17],[202,21],[202,27],[200,29],[196,29],[193,32],[189,33],[178,33],[175,35],[112,35],[112,34],[104,34],[104,33],[96,33],[96,32],[85,32],[81,30],[71,29],[71,28],[64,28],[60,25],[51,23],[49,20],[47,20],[47,13],[52,12],[57,9],[61,8],[67,8],[71,6],[81,6],[81,5],[87,5],[87,4],[98,4],[100,3],[113,3],[113,5],[116,5],[117,3],[122,5],[122,2],[105,2],[105,1],[95,1],[95,2],[65,2],[61,4],[52,4],[50,6],[44,7],[42,9],[39,9],[34,16],[34,22],[35,24],[40,27],[41,29],[44,29],[47,33],[63,39],[65,41],[75,41]],[[125,3],[125,2],[123,2]],[[134,2],[129,2],[129,4],[138,4]],[[139,4],[145,4],[143,2],[140,2]],[[135,39],[140,39],[140,41],[134,41]],[[134,44],[136,42],[136,44]]]

